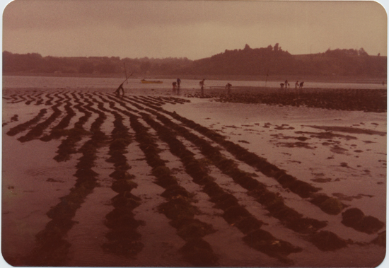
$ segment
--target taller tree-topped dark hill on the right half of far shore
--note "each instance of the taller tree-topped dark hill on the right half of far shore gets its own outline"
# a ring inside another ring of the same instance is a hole
[[[328,49],[324,53],[291,55],[279,44],[272,47],[226,50],[194,61],[185,74],[386,76],[387,57],[369,56],[363,48]]]

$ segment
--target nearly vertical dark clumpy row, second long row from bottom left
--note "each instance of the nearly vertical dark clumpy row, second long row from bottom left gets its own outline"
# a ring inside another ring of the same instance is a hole
[[[102,107],[102,103],[99,104]],[[112,107],[112,103],[110,106]],[[132,212],[141,204],[141,199],[131,193],[131,190],[137,187],[137,183],[133,180],[135,176],[127,172],[131,166],[124,156],[132,139],[128,128],[123,124],[123,117],[118,112],[108,109],[105,111],[112,113],[115,117],[108,152],[110,158],[107,162],[115,166],[115,171],[110,174],[110,177],[113,179],[111,189],[117,192],[117,195],[111,199],[114,209],[105,216],[105,226],[111,230],[105,235],[108,242],[102,247],[117,255],[134,257],[144,245],[140,241],[140,233],[137,232],[137,227],[142,222],[134,219]]]

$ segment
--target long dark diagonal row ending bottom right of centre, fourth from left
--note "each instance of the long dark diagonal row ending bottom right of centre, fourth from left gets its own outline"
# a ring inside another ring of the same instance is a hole
[[[226,193],[214,182],[215,179],[208,175],[207,169],[175,137],[175,133],[153,120],[150,115],[145,113],[141,113],[141,115],[147,124],[157,131],[160,139],[169,145],[171,153],[180,158],[185,166],[185,172],[193,178],[194,183],[202,186],[203,192],[210,197],[209,201],[213,202],[216,208],[224,211],[222,215],[223,219],[245,234],[243,238],[245,243],[270,257],[276,257],[281,262],[293,263],[287,258],[287,255],[294,252],[301,252],[302,249],[300,247],[277,239],[271,233],[260,229],[262,221],[257,220],[247,209],[240,206],[238,199],[233,194]]]

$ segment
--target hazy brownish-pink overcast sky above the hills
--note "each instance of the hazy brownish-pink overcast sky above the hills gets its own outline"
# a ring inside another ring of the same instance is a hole
[[[279,43],[291,54],[387,55],[387,26],[375,1],[15,0],[3,13],[3,51],[202,59]]]

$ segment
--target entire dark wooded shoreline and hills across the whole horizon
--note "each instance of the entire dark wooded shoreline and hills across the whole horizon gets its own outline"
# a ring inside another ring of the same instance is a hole
[[[318,54],[292,55],[279,44],[226,50],[198,60],[187,58],[129,59],[120,57],[42,57],[3,52],[3,72],[51,74],[135,75],[314,75],[386,77],[387,57],[370,56],[363,48],[328,49]]]

